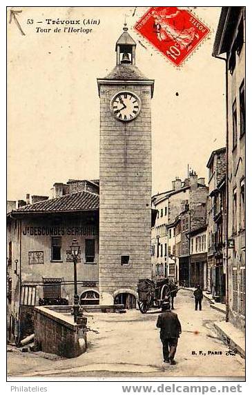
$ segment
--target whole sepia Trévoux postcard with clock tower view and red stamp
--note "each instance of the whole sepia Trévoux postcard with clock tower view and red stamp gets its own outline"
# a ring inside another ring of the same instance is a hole
[[[7,8],[8,381],[244,381],[244,32]]]

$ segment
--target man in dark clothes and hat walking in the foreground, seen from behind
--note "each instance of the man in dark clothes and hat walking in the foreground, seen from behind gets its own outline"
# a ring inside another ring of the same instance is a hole
[[[157,318],[157,327],[160,328],[160,340],[163,345],[164,362],[175,365],[177,341],[182,333],[181,324],[177,314],[171,311],[171,304],[162,303],[162,313]]]

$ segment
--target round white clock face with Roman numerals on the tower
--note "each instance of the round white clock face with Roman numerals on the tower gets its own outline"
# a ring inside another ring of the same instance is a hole
[[[131,121],[140,112],[141,102],[136,94],[119,92],[111,101],[111,110],[118,121]]]

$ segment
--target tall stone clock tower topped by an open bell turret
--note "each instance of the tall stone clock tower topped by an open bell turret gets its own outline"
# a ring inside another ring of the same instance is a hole
[[[151,99],[154,81],[135,65],[124,24],[115,68],[97,79],[100,97],[100,304],[135,307],[139,278],[151,278]],[[130,296],[130,297],[128,297]]]

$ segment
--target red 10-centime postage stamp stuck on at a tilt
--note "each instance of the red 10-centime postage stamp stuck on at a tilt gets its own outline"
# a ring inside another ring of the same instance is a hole
[[[195,15],[177,7],[151,7],[134,28],[177,66],[210,32]]]

